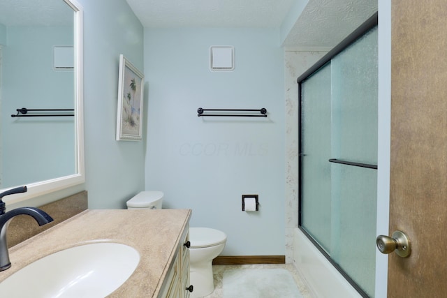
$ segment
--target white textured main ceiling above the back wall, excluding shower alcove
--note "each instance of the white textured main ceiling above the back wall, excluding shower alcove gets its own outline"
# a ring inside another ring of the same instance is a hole
[[[144,27],[279,27],[302,0],[126,0]]]

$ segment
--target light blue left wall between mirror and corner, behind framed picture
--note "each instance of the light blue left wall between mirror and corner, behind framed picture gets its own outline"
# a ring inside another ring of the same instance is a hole
[[[143,28],[124,0],[78,1],[84,8],[85,188],[89,208],[124,208],[126,200],[144,190],[145,142],[115,140],[119,54],[142,70]]]

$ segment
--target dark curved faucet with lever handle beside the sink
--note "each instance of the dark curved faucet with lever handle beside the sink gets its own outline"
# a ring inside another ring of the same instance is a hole
[[[51,223],[53,221],[53,218],[51,218],[51,216],[49,216],[46,212],[34,207],[20,207],[5,212],[5,203],[1,200],[5,195],[26,193],[27,191],[27,186],[20,186],[0,193],[0,271],[6,270],[11,267],[11,262],[9,260],[8,242],[6,239],[10,219],[12,219],[14,216],[24,214],[32,216],[37,221],[38,225],[45,225],[46,223]]]

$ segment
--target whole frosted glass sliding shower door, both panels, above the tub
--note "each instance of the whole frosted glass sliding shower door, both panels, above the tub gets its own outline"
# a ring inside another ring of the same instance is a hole
[[[374,297],[377,27],[300,82],[300,228]]]

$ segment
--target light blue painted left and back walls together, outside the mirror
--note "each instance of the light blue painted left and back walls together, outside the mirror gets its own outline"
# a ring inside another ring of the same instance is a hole
[[[193,209],[192,225],[228,234],[224,255],[284,255],[284,58],[278,31],[146,29],[143,36],[124,0],[78,2],[84,7],[87,181],[34,204],[86,189],[89,208],[124,208],[135,193],[160,189],[166,207]],[[233,72],[210,72],[211,45],[235,46]],[[119,54],[140,70],[144,64],[147,141],[115,141]],[[269,115],[202,118],[198,107],[265,107]],[[253,193],[261,211],[242,212],[241,195]]]

